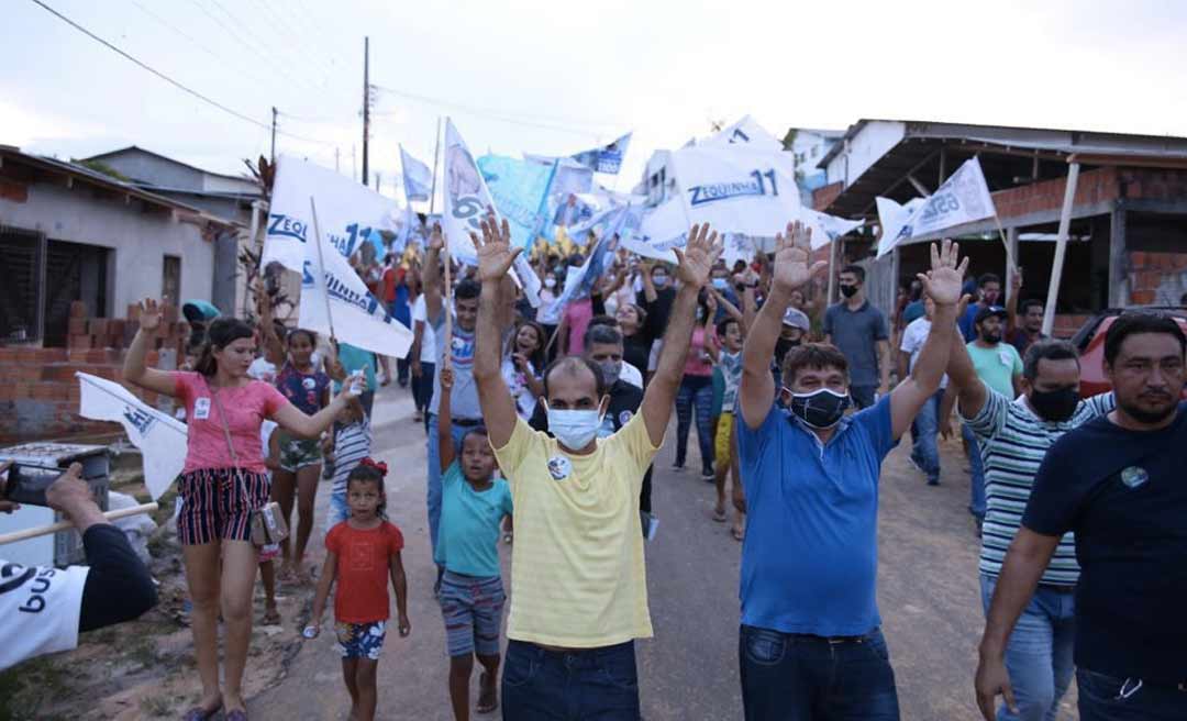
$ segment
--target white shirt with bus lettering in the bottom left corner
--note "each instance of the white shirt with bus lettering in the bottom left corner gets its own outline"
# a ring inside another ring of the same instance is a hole
[[[64,569],[0,561],[0,671],[78,645],[84,565]]]

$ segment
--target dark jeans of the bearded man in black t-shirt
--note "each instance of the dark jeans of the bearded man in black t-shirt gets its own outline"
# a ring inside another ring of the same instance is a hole
[[[1187,719],[1187,691],[1077,669],[1080,721],[1181,721]]]

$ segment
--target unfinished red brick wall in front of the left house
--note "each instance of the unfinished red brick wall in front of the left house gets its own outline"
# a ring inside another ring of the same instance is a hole
[[[31,346],[0,347],[0,443],[49,441],[71,436],[119,431],[114,423],[78,416],[80,388],[75,373],[89,373],[121,380],[123,355],[139,323],[126,318],[88,318],[82,303],[71,305],[66,348]],[[129,314],[135,312],[129,309]],[[177,322],[177,308],[170,306],[160,330],[152,339],[147,362],[155,367],[163,350],[180,358],[189,331]],[[129,390],[155,406],[155,393]]]

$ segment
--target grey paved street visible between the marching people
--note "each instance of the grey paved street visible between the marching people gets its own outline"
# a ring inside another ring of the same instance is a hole
[[[452,716],[444,627],[431,593],[434,569],[424,505],[424,432],[411,416],[405,391],[392,386],[380,393],[375,450],[393,469],[389,508],[407,543],[404,559],[413,625],[408,639],[388,635],[380,663],[380,717],[446,720]],[[669,436],[656,461],[654,507],[660,527],[647,546],[655,638],[639,643],[643,715],[648,721],[741,719],[741,548],[728,524],[711,519],[712,486],[692,472],[669,469],[673,444]],[[696,454],[694,441],[690,447]],[[903,448],[891,454],[883,469],[878,595],[902,717],[909,721],[976,717],[972,673],[983,615],[977,543],[965,510],[969,485],[959,454],[957,442],[946,448],[939,488],[925,486],[907,464]],[[696,458],[690,458],[688,468],[699,468]],[[328,495],[328,487],[322,486],[318,504],[323,508]],[[509,549],[502,556],[506,578]],[[306,643],[285,681],[252,701],[254,717],[345,717],[349,702],[331,635]],[[477,673],[474,683],[476,689]],[[1074,703],[1065,701],[1061,720],[1075,717]]]

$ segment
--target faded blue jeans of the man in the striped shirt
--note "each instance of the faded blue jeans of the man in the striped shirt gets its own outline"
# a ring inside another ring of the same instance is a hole
[[[996,578],[980,575],[980,601],[986,615],[995,586]],[[1072,593],[1042,584],[1035,589],[1005,646],[1005,669],[1018,713],[1011,714],[1003,703],[997,721],[1055,721],[1059,702],[1075,671],[1074,612]]]

